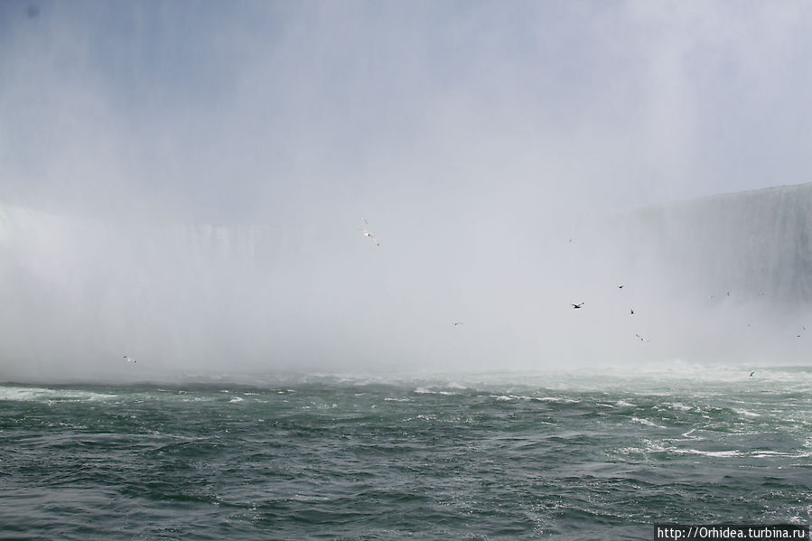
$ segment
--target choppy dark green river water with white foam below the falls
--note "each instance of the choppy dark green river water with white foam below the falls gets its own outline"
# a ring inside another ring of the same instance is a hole
[[[0,387],[27,539],[650,539],[812,518],[812,368]]]

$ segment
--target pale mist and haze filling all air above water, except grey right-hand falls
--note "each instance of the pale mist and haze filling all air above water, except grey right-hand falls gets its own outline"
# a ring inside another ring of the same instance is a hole
[[[611,217],[806,182],[810,21],[5,2],[0,378],[789,358],[791,299],[706,305]]]

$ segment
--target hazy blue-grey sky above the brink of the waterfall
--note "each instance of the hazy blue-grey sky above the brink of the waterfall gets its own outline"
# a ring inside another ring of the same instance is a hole
[[[267,223],[807,182],[810,46],[808,2],[6,0],[0,201]]]

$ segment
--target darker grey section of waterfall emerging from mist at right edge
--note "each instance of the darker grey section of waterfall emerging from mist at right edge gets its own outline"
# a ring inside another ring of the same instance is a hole
[[[611,218],[636,274],[680,295],[812,301],[812,183],[717,195]]]

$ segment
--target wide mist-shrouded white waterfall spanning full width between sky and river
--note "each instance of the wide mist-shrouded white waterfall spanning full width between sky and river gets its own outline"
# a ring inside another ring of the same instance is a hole
[[[573,242],[541,228],[529,243],[444,247],[401,229],[378,247],[352,226],[111,224],[0,205],[0,379],[115,377],[123,355],[185,372],[803,357],[810,216],[804,184],[602,215]]]

